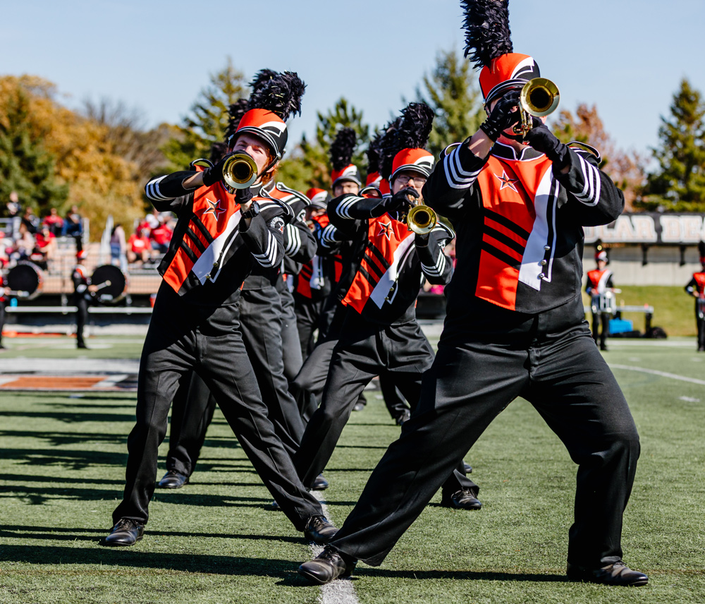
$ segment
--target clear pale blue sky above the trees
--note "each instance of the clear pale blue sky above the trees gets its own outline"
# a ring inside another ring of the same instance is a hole
[[[515,51],[558,84],[561,108],[596,104],[617,145],[640,152],[683,77],[705,92],[704,23],[703,0],[510,2]],[[0,73],[47,78],[69,107],[120,100],[152,126],[180,121],[229,55],[248,78],[298,71],[298,140],[341,95],[384,123],[437,52],[462,49],[461,25],[456,0],[25,0],[2,8]]]

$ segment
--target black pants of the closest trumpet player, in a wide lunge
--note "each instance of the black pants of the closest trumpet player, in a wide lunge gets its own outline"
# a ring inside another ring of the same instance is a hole
[[[381,564],[443,476],[498,413],[524,397],[578,464],[568,562],[601,567],[620,560],[639,437],[587,323],[563,325],[549,312],[538,315],[526,337],[494,342],[462,333],[441,338],[418,407],[372,472],[333,548]]]

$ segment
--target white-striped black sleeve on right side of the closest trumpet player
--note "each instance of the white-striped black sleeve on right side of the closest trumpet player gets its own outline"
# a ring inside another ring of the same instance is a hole
[[[570,169],[567,174],[553,172],[568,191],[578,221],[584,227],[608,224],[624,210],[624,194],[609,176],[598,168],[598,159],[590,152],[569,147]]]

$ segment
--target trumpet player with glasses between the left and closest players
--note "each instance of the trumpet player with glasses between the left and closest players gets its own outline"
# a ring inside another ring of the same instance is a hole
[[[425,104],[412,103],[404,109],[393,139],[391,173],[384,174],[392,195],[345,194],[329,204],[331,223],[350,241],[353,262],[344,268],[338,289],[345,307],[343,323],[321,405],[309,419],[294,456],[307,487],[326,467],[357,397],[372,378],[385,374],[393,380],[413,410],[421,376],[433,361],[434,353],[416,320],[416,298],[422,279],[449,281],[452,269],[443,248],[453,232],[436,224],[416,234],[404,219],[420,200],[433,166],[433,156],[423,148],[432,120],[433,111]],[[446,471],[444,505],[479,509],[477,485],[465,477],[462,462],[456,466]]]

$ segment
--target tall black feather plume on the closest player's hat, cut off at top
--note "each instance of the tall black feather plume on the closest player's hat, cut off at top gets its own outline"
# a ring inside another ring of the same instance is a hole
[[[509,29],[509,0],[462,0],[465,11],[465,56],[475,68],[513,52]]]

